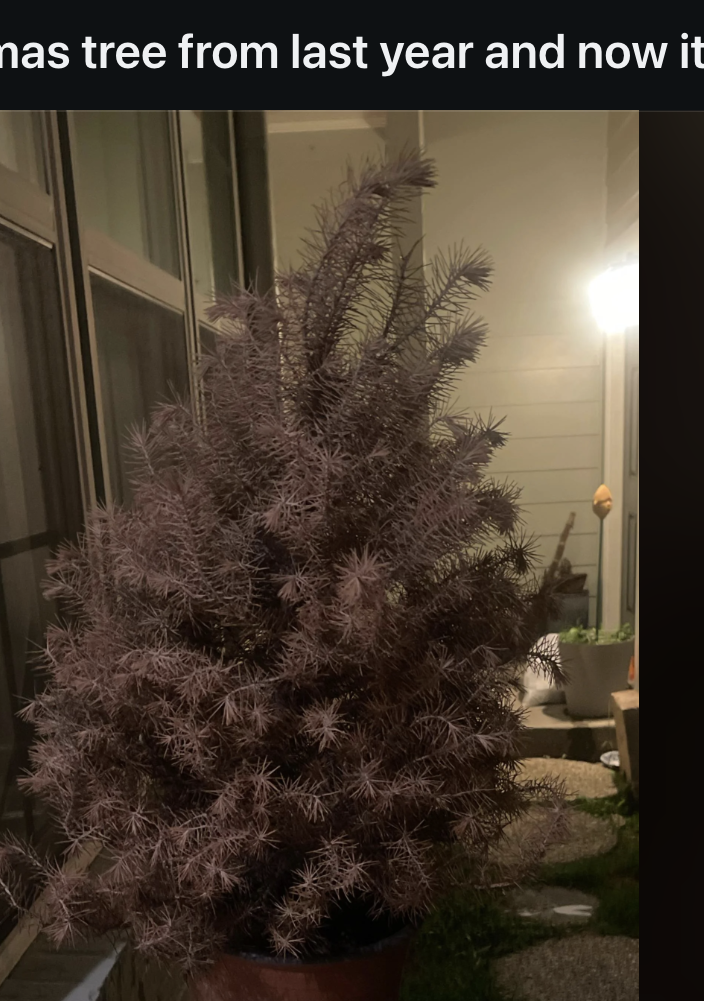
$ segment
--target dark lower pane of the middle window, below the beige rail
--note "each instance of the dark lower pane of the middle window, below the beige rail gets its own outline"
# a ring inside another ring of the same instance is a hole
[[[116,500],[128,502],[125,437],[159,400],[188,390],[183,316],[91,275],[108,466]]]

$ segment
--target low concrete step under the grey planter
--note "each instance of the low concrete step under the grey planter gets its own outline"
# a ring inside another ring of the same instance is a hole
[[[570,758],[599,761],[616,749],[613,719],[573,720],[564,705],[532,706],[526,710],[527,730],[521,750],[525,758]]]

